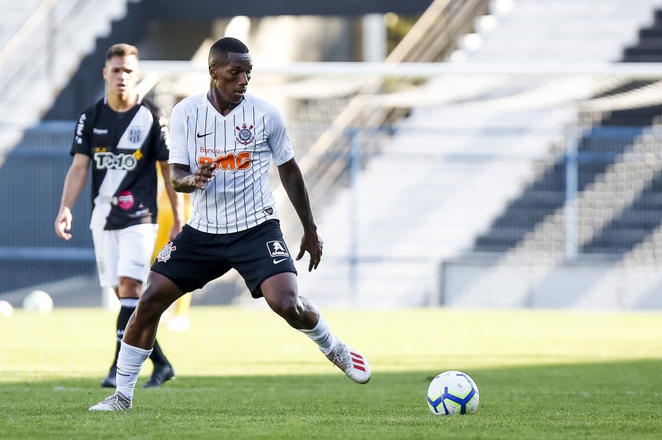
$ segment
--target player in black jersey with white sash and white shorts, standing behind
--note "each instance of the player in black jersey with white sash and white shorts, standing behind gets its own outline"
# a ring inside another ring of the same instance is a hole
[[[157,174],[160,163],[172,205],[174,238],[184,224],[184,199],[170,183],[167,118],[136,93],[138,49],[115,44],[106,53],[103,77],[107,94],[84,110],[72,142],[72,164],[62,191],[56,234],[71,239],[71,209],[92,169],[90,229],[98,276],[120,299],[115,358],[102,387],[115,388],[117,355],[129,317],[147,279],[156,240]],[[158,387],[174,377],[172,365],[157,342],[151,354],[153,373],[145,387]]]

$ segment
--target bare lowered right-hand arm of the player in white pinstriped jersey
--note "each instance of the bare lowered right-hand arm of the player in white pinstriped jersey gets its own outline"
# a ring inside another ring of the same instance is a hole
[[[292,205],[299,216],[303,226],[303,237],[301,238],[301,246],[299,247],[299,254],[296,259],[300,260],[305,252],[310,254],[310,263],[308,264],[308,271],[316,269],[319,266],[319,261],[322,259],[322,247],[324,242],[322,238],[317,235],[317,225],[312,215],[310,207],[310,199],[308,198],[308,190],[306,188],[303,174],[299,168],[299,164],[294,158],[288,160],[278,167],[278,174],[285,188],[285,192],[292,202]]]

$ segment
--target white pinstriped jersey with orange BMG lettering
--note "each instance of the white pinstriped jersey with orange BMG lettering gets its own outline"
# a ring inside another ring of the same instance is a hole
[[[191,173],[205,162],[216,164],[207,188],[190,194],[189,226],[224,234],[277,218],[267,171],[272,158],[284,164],[294,150],[274,105],[247,93],[223,116],[201,93],[175,105],[170,122],[171,164],[184,164]]]

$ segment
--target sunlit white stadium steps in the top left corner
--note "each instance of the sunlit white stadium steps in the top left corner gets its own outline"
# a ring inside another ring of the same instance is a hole
[[[96,39],[106,36],[113,20],[126,13],[128,1],[132,0],[27,0],[0,6],[4,41],[0,48],[0,166],[23,131],[51,108],[82,58],[94,49]],[[5,9],[10,7],[11,11]],[[6,22],[10,18],[11,23]]]

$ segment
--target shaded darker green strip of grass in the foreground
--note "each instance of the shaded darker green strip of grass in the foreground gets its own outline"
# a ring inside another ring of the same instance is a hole
[[[473,415],[435,417],[440,371],[178,377],[136,389],[134,409],[89,413],[113,390],[98,380],[0,383],[2,439],[654,439],[662,432],[662,359],[465,370]],[[141,382],[139,382],[140,384]]]

